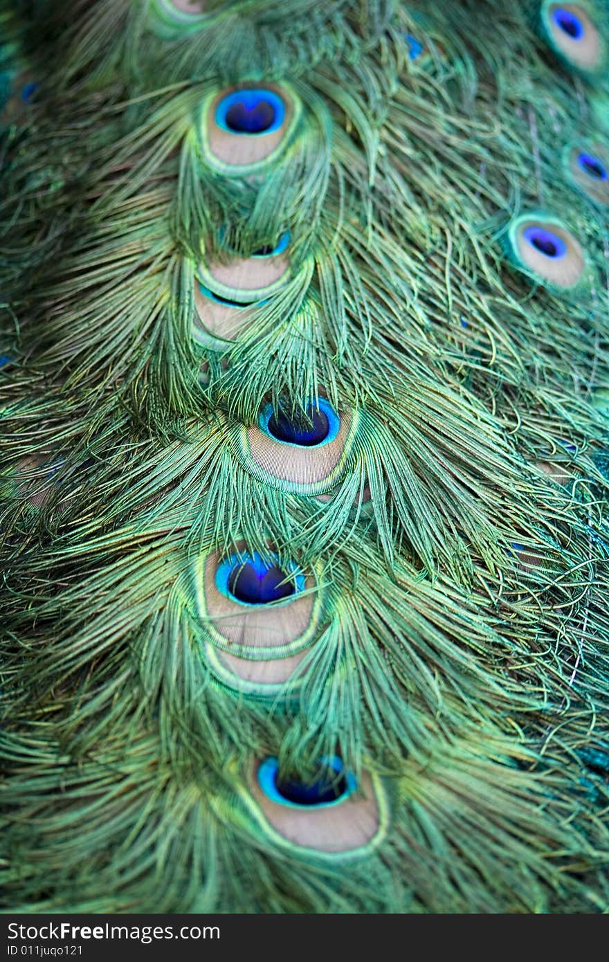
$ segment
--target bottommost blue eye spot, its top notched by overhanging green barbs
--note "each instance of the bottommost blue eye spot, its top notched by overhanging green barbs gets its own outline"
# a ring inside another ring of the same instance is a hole
[[[316,780],[308,784],[280,779],[277,759],[266,758],[258,770],[258,784],[271,801],[301,809],[338,805],[356,791],[355,777],[345,771],[338,756],[320,759],[320,766]]]

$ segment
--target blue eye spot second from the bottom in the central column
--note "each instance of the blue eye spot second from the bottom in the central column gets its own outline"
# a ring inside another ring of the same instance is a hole
[[[264,559],[257,551],[231,555],[216,570],[216,588],[245,605],[282,601],[304,591],[304,575],[295,565],[280,567],[278,558]]]

